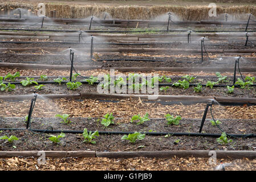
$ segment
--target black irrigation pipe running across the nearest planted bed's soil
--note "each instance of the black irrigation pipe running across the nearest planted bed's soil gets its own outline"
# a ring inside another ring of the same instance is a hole
[[[27,130],[27,129],[18,129],[18,128],[0,128],[0,130],[11,130],[11,131],[16,131],[16,130]],[[40,130],[40,129],[31,129],[29,131],[34,131],[38,133],[72,133],[72,134],[82,134],[84,131],[83,130]],[[90,132],[90,131],[88,131]],[[91,131],[94,133],[94,131]],[[99,134],[101,135],[128,135],[128,134],[133,134],[134,132],[131,131],[98,131]],[[188,137],[221,137],[221,134],[208,134],[208,133],[169,133],[169,132],[141,132],[141,134],[146,134],[146,135],[171,135],[171,136],[188,136]],[[233,134],[230,137],[256,137],[256,134]]]

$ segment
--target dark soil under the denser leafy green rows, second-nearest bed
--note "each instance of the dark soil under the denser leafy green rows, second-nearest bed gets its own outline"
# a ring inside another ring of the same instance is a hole
[[[184,75],[185,76],[185,75]],[[90,77],[90,76],[86,76]],[[48,82],[53,81],[54,78],[57,77],[49,77]],[[190,86],[188,89],[178,88],[176,86],[172,86],[174,82],[177,82],[178,80],[184,80],[184,78],[181,78],[181,76],[171,76],[172,82],[168,83],[166,81],[159,82],[159,90],[158,94],[160,95],[173,95],[173,96],[225,96],[225,97],[256,97],[256,88],[255,86],[247,86],[245,89],[240,88],[238,85],[234,88],[233,93],[227,92],[226,86],[214,86],[213,89],[209,88],[209,86],[205,86],[207,81],[213,81],[216,82],[218,80],[217,77],[213,76],[197,76],[193,82],[190,83]],[[241,77],[237,77],[237,79]],[[20,82],[21,80],[25,80],[26,78],[18,78],[16,82]],[[67,80],[69,78],[67,77]],[[86,78],[78,78],[76,81],[82,81]],[[233,77],[227,77],[227,82],[220,83],[218,85],[233,85]],[[35,78],[35,81],[38,81],[40,84],[40,80],[38,77]],[[10,82],[10,80],[6,80],[5,82]],[[202,85],[202,91],[201,92],[194,92],[194,87],[197,86],[197,84],[201,82]],[[128,83],[128,82],[127,82]],[[62,83],[59,84],[45,84],[43,83],[42,90],[36,90],[34,86],[35,84],[32,84],[30,86],[22,86],[21,84],[16,84],[16,88],[11,92],[0,92],[0,95],[24,95],[24,94],[32,94],[34,92],[37,92],[38,94],[76,94],[76,93],[97,93],[97,86],[98,84],[90,85],[86,82],[83,82],[82,86],[80,86],[78,89],[70,90],[67,88],[66,84]],[[160,90],[161,87],[168,86],[169,88],[163,91]],[[129,85],[127,85],[127,92],[128,93]],[[149,94],[149,93],[141,93],[141,90],[138,90],[139,92],[135,92],[136,90],[133,89],[132,94]]]

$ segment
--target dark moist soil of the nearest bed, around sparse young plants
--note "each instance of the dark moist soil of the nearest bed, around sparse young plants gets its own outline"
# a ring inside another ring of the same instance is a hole
[[[24,118],[0,118],[3,128],[26,128]],[[78,130],[87,128],[88,131],[131,131],[131,132],[167,132],[167,133],[198,133],[200,119],[181,119],[179,125],[167,125],[165,119],[151,119],[141,125],[136,123],[121,123],[115,119],[115,124],[105,127],[101,125],[101,118],[71,118],[71,123],[60,123],[58,118],[32,118],[32,129],[47,129],[52,126],[54,130]],[[252,119],[220,119],[219,126],[228,134],[255,133]],[[206,119],[202,133],[220,134],[216,126],[212,126]],[[1,150],[92,150],[92,151],[163,151],[163,150],[253,150],[249,144],[255,146],[255,138],[231,138],[233,141],[220,144],[216,137],[185,137],[174,135],[146,135],[145,139],[137,140],[135,144],[122,140],[124,134],[100,134],[94,139],[96,144],[84,143],[82,134],[66,133],[58,144],[52,143],[48,138],[54,134],[33,134],[29,130],[2,130],[2,135],[15,135],[19,140],[8,143],[0,140]],[[178,140],[178,142],[177,142]],[[13,147],[15,146],[15,147]]]

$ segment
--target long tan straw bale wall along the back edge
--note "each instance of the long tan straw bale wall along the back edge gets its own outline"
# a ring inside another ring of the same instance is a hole
[[[0,10],[7,13],[8,10],[31,9],[36,14],[38,7],[36,3],[1,2]],[[103,18],[104,13],[108,13],[116,19],[154,19],[157,16],[172,12],[183,20],[209,19],[208,6],[102,6],[102,5],[65,5],[57,3],[46,3],[46,16],[50,16],[50,11],[56,10],[56,18],[87,18],[91,15]],[[1,12],[0,11],[0,12]],[[217,6],[217,15],[247,14],[256,15],[256,6]]]

